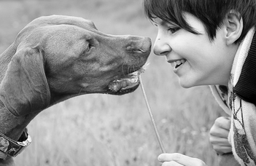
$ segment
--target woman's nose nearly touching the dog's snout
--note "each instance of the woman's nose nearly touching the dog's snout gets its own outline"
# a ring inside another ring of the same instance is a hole
[[[155,55],[167,55],[168,52],[171,52],[171,47],[167,42],[163,41],[159,37],[155,40],[154,44],[154,53]]]

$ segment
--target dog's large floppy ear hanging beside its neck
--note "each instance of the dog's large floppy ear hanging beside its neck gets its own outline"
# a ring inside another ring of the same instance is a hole
[[[42,111],[50,104],[43,51],[25,48],[12,57],[0,84],[0,99],[15,116]]]

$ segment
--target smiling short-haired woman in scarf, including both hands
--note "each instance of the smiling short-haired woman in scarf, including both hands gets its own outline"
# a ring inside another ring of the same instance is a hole
[[[211,130],[219,154],[256,165],[256,1],[144,0],[158,28],[155,55],[166,56],[182,87],[210,85],[230,119]],[[222,138],[223,135],[228,137]],[[160,154],[163,165],[206,165],[182,154]]]

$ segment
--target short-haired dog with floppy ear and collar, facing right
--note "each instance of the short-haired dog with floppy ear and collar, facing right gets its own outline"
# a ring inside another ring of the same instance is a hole
[[[40,111],[77,95],[123,95],[139,86],[151,40],[113,36],[81,17],[36,18],[0,55],[0,165],[28,143],[26,126]],[[8,147],[12,145],[12,147]],[[3,147],[4,146],[4,147]]]

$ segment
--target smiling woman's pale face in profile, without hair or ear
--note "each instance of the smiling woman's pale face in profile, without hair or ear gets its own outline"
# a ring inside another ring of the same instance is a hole
[[[200,34],[190,33],[160,18],[154,20],[158,27],[158,36],[154,45],[155,54],[166,56],[182,87],[228,85],[238,46],[226,44],[225,26],[217,31],[214,41],[210,41],[203,23],[197,17],[185,13],[185,20]]]

